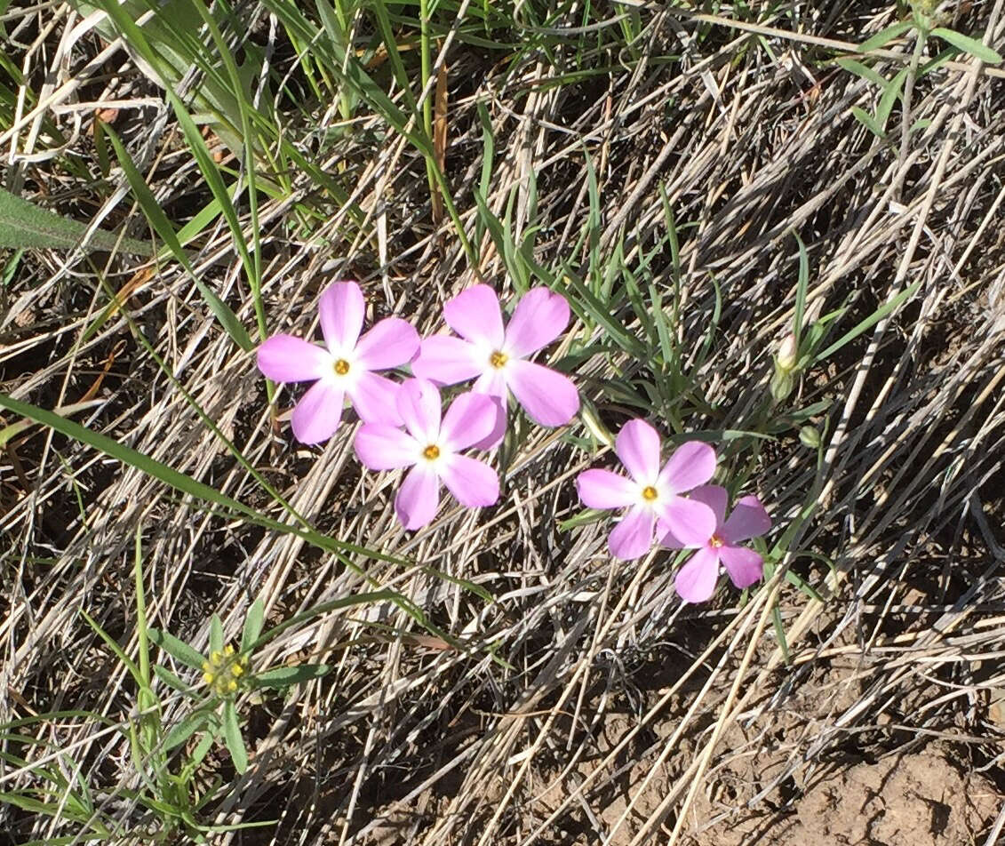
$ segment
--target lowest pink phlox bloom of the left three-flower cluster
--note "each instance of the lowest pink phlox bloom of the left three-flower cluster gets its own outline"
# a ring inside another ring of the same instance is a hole
[[[404,382],[397,402],[406,431],[367,423],[356,433],[355,446],[357,457],[371,470],[412,468],[394,499],[401,524],[420,528],[436,515],[440,481],[464,507],[495,504],[499,496],[495,471],[459,454],[491,431],[495,402],[484,394],[461,394],[441,421],[439,391],[425,379]]]

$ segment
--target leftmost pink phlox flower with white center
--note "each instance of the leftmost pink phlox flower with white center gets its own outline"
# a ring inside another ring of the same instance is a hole
[[[314,382],[293,409],[293,435],[321,443],[335,433],[349,397],[360,419],[401,425],[398,384],[374,371],[407,364],[419,334],[400,318],[385,318],[362,338],[366,301],[356,282],[334,282],[321,295],[325,347],[291,335],[273,335],[258,347],[258,370],[275,382]]]

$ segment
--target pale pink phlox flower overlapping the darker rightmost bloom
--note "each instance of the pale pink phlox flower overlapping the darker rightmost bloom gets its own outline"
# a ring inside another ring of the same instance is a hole
[[[701,441],[687,441],[659,467],[659,434],[644,420],[629,420],[618,432],[614,451],[628,470],[592,469],[576,479],[579,498],[590,508],[627,508],[608,539],[618,559],[644,556],[652,547],[656,521],[673,527],[688,543],[708,540],[716,525],[712,509],[681,496],[716,471],[716,452]]]

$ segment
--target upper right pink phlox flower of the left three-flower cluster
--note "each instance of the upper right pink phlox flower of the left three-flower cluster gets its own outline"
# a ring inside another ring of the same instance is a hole
[[[481,448],[491,448],[506,432],[512,391],[528,416],[542,426],[562,426],[579,411],[572,381],[528,361],[569,325],[569,303],[546,287],[525,293],[504,329],[498,296],[488,285],[474,285],[443,306],[443,318],[460,338],[434,335],[422,342],[412,372],[437,385],[475,379],[472,391],[498,401],[498,418]]]

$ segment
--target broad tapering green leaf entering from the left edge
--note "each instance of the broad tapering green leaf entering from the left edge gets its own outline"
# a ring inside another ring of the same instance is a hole
[[[73,249],[80,245],[87,227],[75,220],[40,208],[0,188],[0,247],[32,249]],[[113,252],[117,249],[149,257],[150,244],[123,238],[104,229],[91,233],[87,242],[92,249]]]

